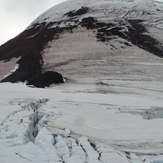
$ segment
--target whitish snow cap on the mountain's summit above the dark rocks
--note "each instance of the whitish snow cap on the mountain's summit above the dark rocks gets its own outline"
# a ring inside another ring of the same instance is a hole
[[[29,27],[42,22],[50,23],[66,20],[67,18],[64,16],[66,13],[79,10],[83,6],[90,9],[86,14],[87,16],[93,16],[99,20],[108,19],[108,16],[109,19],[116,20],[121,19],[122,16],[135,19],[140,18],[142,15],[147,17],[144,16],[144,19],[148,19],[148,17],[151,17],[149,13],[151,15],[157,13],[159,18],[162,18],[162,11],[157,11],[158,9],[162,10],[162,3],[153,0],[68,0],[45,11]],[[162,26],[163,23],[160,22],[159,24]]]

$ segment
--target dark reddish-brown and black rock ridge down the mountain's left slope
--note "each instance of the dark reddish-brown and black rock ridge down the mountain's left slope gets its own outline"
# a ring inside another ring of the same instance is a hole
[[[49,41],[58,38],[62,30],[64,29],[48,29],[48,25],[36,24],[2,45],[0,47],[1,61],[7,62],[18,57],[20,59],[17,61],[19,68],[1,82],[24,82],[40,75],[43,65],[41,52]]]

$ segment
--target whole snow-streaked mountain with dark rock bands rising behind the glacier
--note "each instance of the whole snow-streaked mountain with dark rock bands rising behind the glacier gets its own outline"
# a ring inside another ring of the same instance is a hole
[[[70,0],[54,6],[0,47],[0,77],[16,82],[57,71],[66,78],[162,79],[163,11],[157,5]]]

